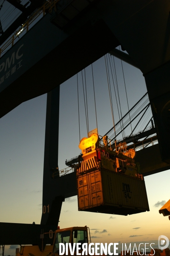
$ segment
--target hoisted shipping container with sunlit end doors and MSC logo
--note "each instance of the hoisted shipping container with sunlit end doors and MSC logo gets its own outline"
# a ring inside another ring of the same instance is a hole
[[[78,210],[130,215],[149,211],[144,179],[106,169],[77,176]]]

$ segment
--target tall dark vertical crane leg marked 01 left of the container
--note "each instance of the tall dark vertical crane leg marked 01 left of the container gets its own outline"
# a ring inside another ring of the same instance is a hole
[[[56,196],[59,173],[52,178],[52,173],[58,172],[58,129],[59,129],[60,86],[47,94],[46,134],[44,148],[43,170],[43,205],[41,224],[58,225],[64,196]]]

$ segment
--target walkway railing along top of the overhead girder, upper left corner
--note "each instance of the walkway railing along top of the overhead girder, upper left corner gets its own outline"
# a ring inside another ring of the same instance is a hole
[[[43,4],[43,6],[41,6],[39,9],[37,9],[26,21],[26,23],[22,24],[22,26],[20,27],[20,29],[18,29],[18,31],[12,35],[12,37],[10,37],[8,39],[8,41],[6,41],[0,48],[0,57],[1,55],[4,53],[4,51],[7,49],[9,50],[10,47],[12,47],[16,41],[16,39],[18,38],[18,36],[25,32],[29,31],[29,26],[38,18],[40,17],[40,15],[42,14],[43,16],[46,14],[46,10],[48,10],[49,13],[52,12],[52,9],[55,10],[56,12],[56,4],[59,2],[60,0],[47,0],[46,3]]]

